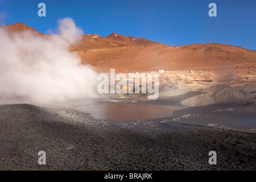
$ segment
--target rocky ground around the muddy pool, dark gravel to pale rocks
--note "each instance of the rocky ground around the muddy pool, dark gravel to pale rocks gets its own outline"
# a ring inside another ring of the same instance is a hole
[[[158,100],[144,94],[96,100],[184,108],[143,121],[95,119],[76,110],[78,102],[1,105],[0,170],[255,170],[255,82],[239,77],[165,72]],[[46,165],[38,164],[39,151]],[[210,151],[217,165],[208,163]]]

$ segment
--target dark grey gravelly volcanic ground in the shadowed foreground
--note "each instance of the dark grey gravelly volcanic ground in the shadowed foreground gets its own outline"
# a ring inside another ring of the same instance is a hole
[[[253,107],[255,105],[244,111],[253,115]],[[197,110],[195,114],[198,115],[197,121],[200,121],[207,117],[202,115],[203,108],[187,109]],[[206,109],[209,110],[208,107]],[[146,130],[146,127],[129,129],[110,121],[97,121],[78,111],[22,104],[2,105],[0,169],[255,170],[254,129],[237,130],[214,126],[192,128],[185,123],[178,123],[184,122],[184,119],[188,121],[189,117],[172,121],[192,110],[183,113],[177,111],[174,117],[167,119],[168,126],[182,128],[180,132],[152,132]],[[228,111],[218,110],[218,115],[221,112],[225,115],[223,112]],[[164,119],[152,120],[152,123],[161,121]],[[41,150],[46,151],[47,165],[38,164],[38,152]],[[208,153],[212,150],[217,152],[217,165],[208,163]]]

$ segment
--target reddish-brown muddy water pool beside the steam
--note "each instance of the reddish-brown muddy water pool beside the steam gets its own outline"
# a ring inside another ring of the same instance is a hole
[[[96,119],[113,121],[134,121],[171,117],[180,106],[132,104],[132,103],[104,103],[76,107],[76,110],[89,113]]]

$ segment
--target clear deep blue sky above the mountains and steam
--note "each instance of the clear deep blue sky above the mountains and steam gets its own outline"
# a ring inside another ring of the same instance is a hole
[[[46,17],[38,4],[46,4]],[[217,17],[210,17],[209,3]],[[85,34],[112,32],[171,46],[222,43],[256,50],[255,0],[0,0],[0,24],[22,22],[46,33],[71,17]]]

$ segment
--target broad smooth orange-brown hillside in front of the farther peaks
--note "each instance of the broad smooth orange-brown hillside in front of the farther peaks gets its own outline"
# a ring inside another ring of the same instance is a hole
[[[256,63],[256,51],[216,43],[188,46],[154,44],[78,53],[84,64],[106,71],[115,68],[120,72],[235,68],[235,65],[255,66]]]

